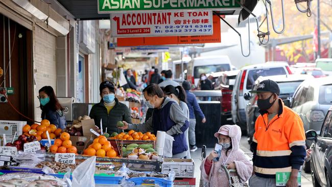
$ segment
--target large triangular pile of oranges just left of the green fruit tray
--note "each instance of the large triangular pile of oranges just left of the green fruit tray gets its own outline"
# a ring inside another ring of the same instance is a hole
[[[103,135],[98,136],[93,140],[93,143],[83,151],[84,155],[118,158],[117,152],[114,150],[111,143]]]

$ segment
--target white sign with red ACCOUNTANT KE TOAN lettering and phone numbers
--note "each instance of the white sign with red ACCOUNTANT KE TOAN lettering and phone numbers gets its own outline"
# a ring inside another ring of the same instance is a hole
[[[114,13],[113,37],[212,35],[212,11]]]

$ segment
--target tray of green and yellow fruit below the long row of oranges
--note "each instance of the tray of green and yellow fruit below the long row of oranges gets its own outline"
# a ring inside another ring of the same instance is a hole
[[[152,144],[129,144],[126,147],[122,147],[122,157],[127,157],[130,153],[135,153],[137,156],[143,153],[153,153],[156,152],[153,149]]]

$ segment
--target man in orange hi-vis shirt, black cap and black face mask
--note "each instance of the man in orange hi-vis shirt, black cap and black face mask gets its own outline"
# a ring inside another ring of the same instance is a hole
[[[276,172],[291,172],[286,186],[297,187],[298,172],[306,156],[302,120],[279,99],[276,82],[264,80],[250,92],[257,93],[260,115],[251,144],[254,169],[249,185],[276,186]]]

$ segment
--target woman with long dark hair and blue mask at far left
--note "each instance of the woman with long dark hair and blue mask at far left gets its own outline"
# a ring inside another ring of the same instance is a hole
[[[59,103],[54,89],[51,86],[44,86],[39,89],[39,102],[41,109],[41,119],[49,120],[57,128],[65,129],[67,122],[64,118],[63,108]]]

